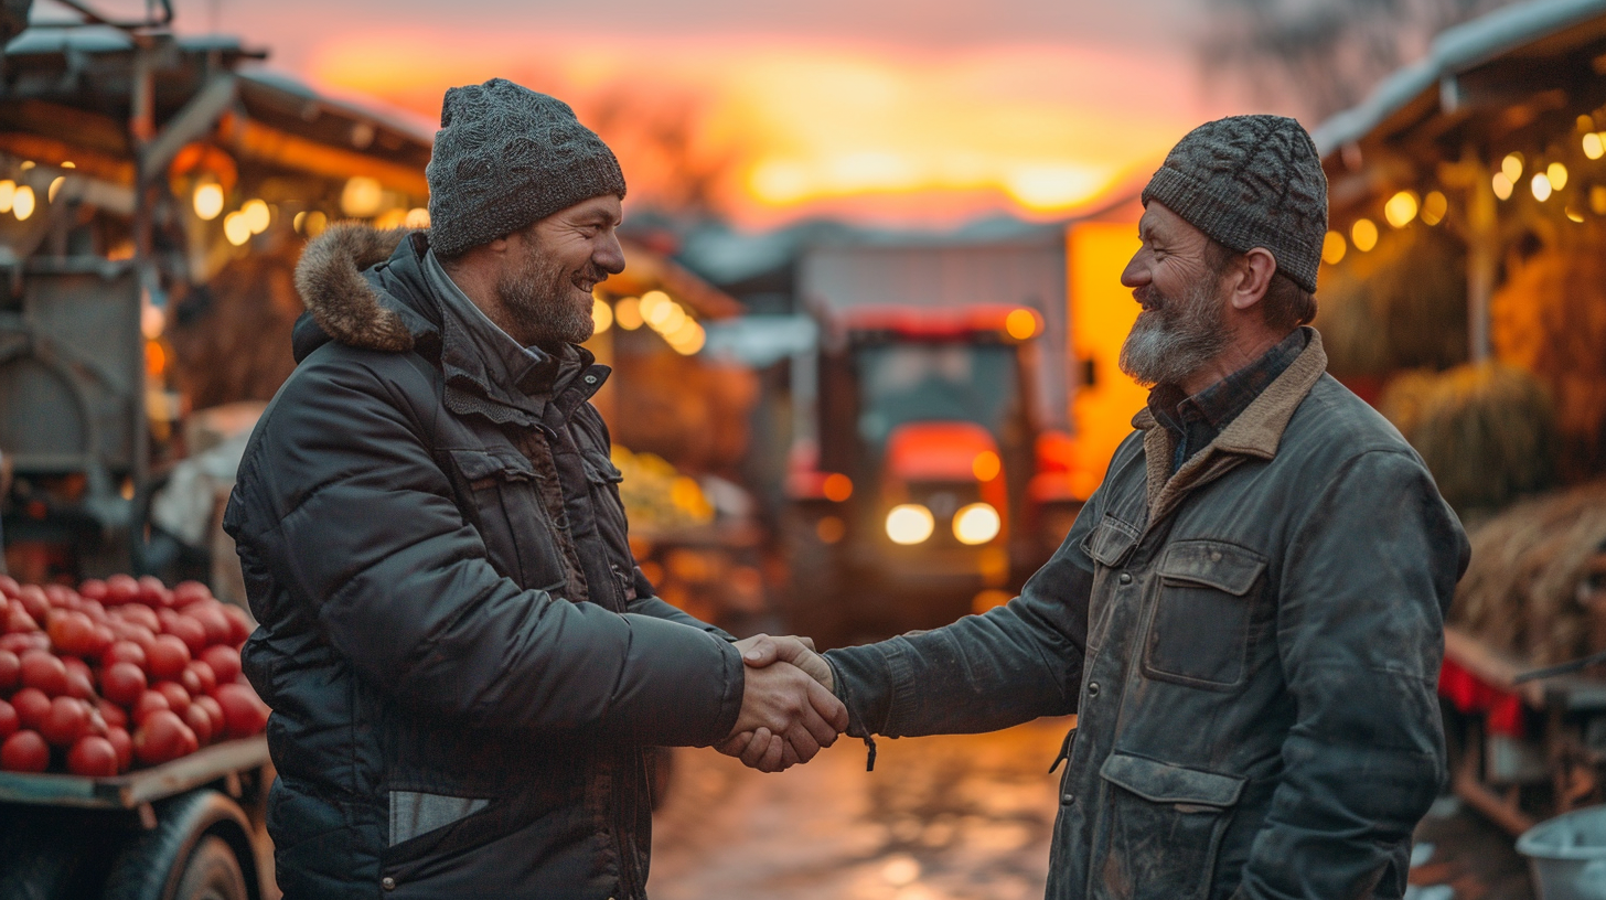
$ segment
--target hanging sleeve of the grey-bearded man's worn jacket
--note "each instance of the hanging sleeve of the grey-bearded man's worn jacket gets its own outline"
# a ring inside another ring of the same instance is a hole
[[[1413,456],[1352,460],[1291,535],[1277,640],[1294,723],[1238,897],[1363,897],[1445,778],[1436,688],[1466,537]]]

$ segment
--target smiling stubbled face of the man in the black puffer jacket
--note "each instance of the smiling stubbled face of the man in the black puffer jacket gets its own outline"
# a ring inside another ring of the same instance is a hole
[[[591,291],[625,270],[615,230],[620,199],[599,196],[507,236],[509,257],[496,294],[514,334],[525,344],[581,344],[591,338]]]

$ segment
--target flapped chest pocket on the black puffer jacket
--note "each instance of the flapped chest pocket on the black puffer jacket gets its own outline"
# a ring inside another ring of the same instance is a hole
[[[491,566],[524,588],[562,591],[569,569],[554,543],[535,466],[517,450],[451,450],[467,489],[464,513]]]

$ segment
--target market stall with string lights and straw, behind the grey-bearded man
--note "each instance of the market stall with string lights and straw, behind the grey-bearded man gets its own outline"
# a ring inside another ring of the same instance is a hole
[[[1606,3],[1450,29],[1314,132],[1331,371],[1473,535],[1441,683],[1455,789],[1500,824],[1600,802],[1606,681]]]

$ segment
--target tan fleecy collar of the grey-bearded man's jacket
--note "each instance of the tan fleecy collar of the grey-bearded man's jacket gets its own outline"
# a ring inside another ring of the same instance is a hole
[[[1254,399],[1238,418],[1216,436],[1192,460],[1171,474],[1174,437],[1155,421],[1155,413],[1143,407],[1132,416],[1132,428],[1143,432],[1143,456],[1148,477],[1150,521],[1160,521],[1182,498],[1203,484],[1214,481],[1245,458],[1270,460],[1277,456],[1283,431],[1299,403],[1310,394],[1315,382],[1327,373],[1327,350],[1322,334],[1304,326],[1309,338],[1304,352]]]

